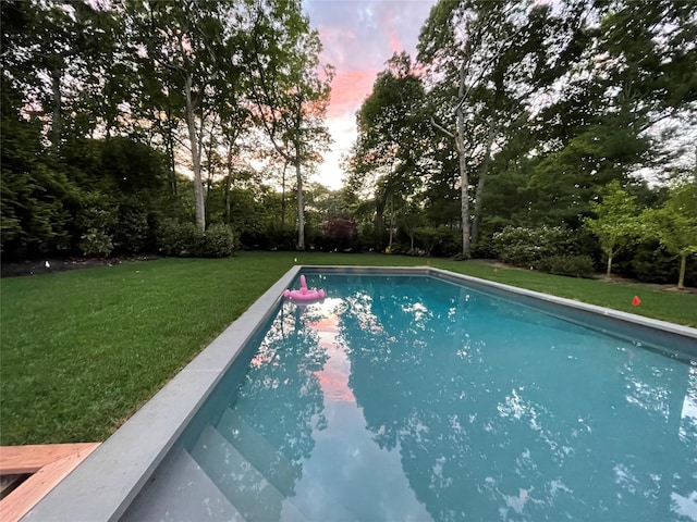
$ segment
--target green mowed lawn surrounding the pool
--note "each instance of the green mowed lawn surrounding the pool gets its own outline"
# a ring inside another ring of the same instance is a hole
[[[0,443],[103,440],[293,264],[426,263],[697,326],[697,295],[401,256],[242,252],[5,278]]]

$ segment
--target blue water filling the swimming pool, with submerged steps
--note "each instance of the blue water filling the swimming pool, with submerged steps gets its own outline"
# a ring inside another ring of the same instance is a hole
[[[437,278],[307,279],[329,297],[278,309],[125,520],[697,521],[696,361]]]

